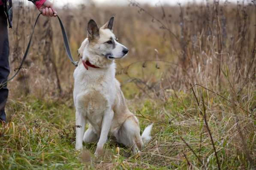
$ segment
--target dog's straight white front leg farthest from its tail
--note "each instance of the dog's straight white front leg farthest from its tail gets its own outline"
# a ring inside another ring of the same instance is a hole
[[[83,135],[85,127],[85,117],[81,111],[75,112],[75,149],[79,150],[83,148]]]

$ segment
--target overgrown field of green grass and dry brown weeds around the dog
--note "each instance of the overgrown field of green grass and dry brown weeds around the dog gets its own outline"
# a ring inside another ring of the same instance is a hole
[[[21,62],[38,14],[14,3],[9,30],[11,75]],[[256,164],[256,1],[167,6],[57,9],[76,50],[87,22],[114,15],[114,33],[130,49],[117,79],[141,131],[154,123],[139,154],[109,138],[75,150],[75,67],[56,18],[40,18],[28,59],[9,83],[8,123],[0,125],[0,169],[253,170]]]

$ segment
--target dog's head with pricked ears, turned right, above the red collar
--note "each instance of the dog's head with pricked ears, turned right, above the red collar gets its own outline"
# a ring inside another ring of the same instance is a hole
[[[81,44],[78,49],[78,53],[83,53],[83,58],[96,57],[101,62],[110,62],[113,59],[120,59],[126,56],[128,49],[118,42],[118,39],[114,35],[112,29],[114,25],[114,17],[105,23],[102,27],[98,27],[96,22],[90,20],[87,25],[87,39]],[[99,57],[101,57],[99,59]],[[92,61],[93,62],[93,61]]]

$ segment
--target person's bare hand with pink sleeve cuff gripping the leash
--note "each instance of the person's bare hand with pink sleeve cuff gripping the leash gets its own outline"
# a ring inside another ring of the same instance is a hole
[[[42,12],[42,15],[49,17],[56,17],[57,12],[55,11],[53,4],[49,0],[29,0],[33,2],[37,9]]]

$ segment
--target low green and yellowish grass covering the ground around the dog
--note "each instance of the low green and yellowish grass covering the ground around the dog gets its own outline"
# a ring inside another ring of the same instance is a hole
[[[221,169],[253,169],[241,148],[234,112],[227,111],[232,110],[232,104],[207,91],[197,89],[196,93],[205,96],[208,126]],[[200,95],[197,97],[202,109]],[[133,155],[130,148],[110,138],[104,156],[95,158],[91,153],[96,143],[84,144],[82,154],[75,150],[72,100],[29,97],[10,101],[10,121],[0,126],[0,169],[217,169],[211,139],[190,91],[172,92],[165,102],[145,99],[128,103],[139,117],[141,129],[154,122],[153,139]],[[242,110],[237,116],[247,150],[255,158],[255,119]]]

